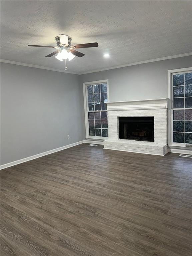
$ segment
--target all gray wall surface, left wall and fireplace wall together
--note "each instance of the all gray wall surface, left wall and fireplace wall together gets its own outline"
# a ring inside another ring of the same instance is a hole
[[[188,56],[78,76],[1,63],[1,164],[85,139],[83,82],[109,79],[110,101],[166,98],[167,70],[191,66]]]

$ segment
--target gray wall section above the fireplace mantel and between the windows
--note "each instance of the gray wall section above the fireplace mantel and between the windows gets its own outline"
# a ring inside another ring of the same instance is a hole
[[[191,66],[192,56],[187,56],[89,73],[81,75],[80,81],[109,79],[110,101],[166,98],[167,70]]]

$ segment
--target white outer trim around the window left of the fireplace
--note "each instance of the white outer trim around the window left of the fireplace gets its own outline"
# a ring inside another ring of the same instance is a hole
[[[94,139],[94,140],[107,140],[108,139],[108,137],[97,137],[97,136],[89,135],[89,123],[88,123],[88,116],[87,116],[88,100],[87,100],[86,86],[92,85],[92,84],[102,84],[102,83],[107,83],[107,98],[108,98],[108,102],[109,102],[109,80],[108,79],[83,83],[86,139]]]

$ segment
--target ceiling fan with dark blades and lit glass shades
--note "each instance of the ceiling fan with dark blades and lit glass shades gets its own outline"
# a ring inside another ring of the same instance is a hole
[[[45,56],[47,57],[52,57],[55,54],[55,58],[57,58],[60,61],[65,60],[65,70],[67,69],[66,67],[66,59],[69,61],[72,60],[75,56],[77,57],[83,57],[85,54],[76,51],[75,49],[80,49],[80,48],[90,48],[90,47],[98,47],[98,43],[88,43],[88,44],[76,44],[76,45],[71,45],[71,37],[67,35],[62,35],[59,34],[58,36],[55,37],[57,46],[45,46],[45,45],[31,45],[29,44],[28,46],[32,47],[47,47],[47,48],[54,48],[57,49],[56,51],[48,54]]]

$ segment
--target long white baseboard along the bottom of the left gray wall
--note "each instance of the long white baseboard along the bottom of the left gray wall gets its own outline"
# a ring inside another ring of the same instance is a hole
[[[27,161],[30,161],[33,159],[36,159],[36,158],[39,158],[42,156],[46,156],[46,155],[49,155],[49,154],[52,154],[52,153],[55,153],[55,152],[58,152],[58,151],[61,151],[61,150],[67,149],[67,148],[71,148],[71,147],[77,146],[82,143],[85,143],[84,140],[78,141],[78,142],[75,142],[75,143],[60,147],[60,148],[55,148],[55,149],[52,149],[52,150],[49,150],[49,151],[46,151],[46,152],[43,152],[43,153],[40,153],[37,155],[29,156],[29,157],[26,157],[26,158],[23,158],[23,159],[20,159],[20,160],[11,162],[11,163],[3,164],[3,165],[0,165],[0,170],[17,165],[17,164],[24,163],[24,162],[27,162]]]

